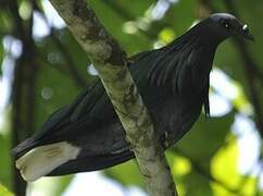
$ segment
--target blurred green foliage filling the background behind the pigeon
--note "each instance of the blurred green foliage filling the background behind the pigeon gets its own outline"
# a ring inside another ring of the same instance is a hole
[[[222,44],[217,49],[214,64],[229,77],[229,85],[238,91],[235,97],[227,99],[233,109],[212,119],[204,119],[202,115],[191,132],[174,148],[166,151],[166,157],[180,195],[252,196],[263,194],[259,188],[260,175],[254,174],[252,170],[248,173],[240,171],[239,135],[231,132],[237,114],[252,120],[258,125],[255,130],[262,131],[263,128],[258,122],[261,117],[260,112],[263,110],[263,36],[261,36],[263,1],[133,0],[130,3],[127,0],[88,0],[88,2],[95,9],[101,23],[129,56],[166,45],[184,34],[197,20],[211,13],[211,10],[226,12],[229,11],[227,3],[234,3],[235,10],[231,11],[238,13],[240,20],[251,26],[255,36],[256,44],[246,44],[243,47],[258,70],[253,72],[246,70],[242,53],[235,41],[228,40]],[[10,84],[14,79],[18,81],[17,84],[24,84],[23,90],[25,91],[16,90],[18,94],[28,94],[34,101],[23,102],[25,108],[33,110],[33,114],[28,115],[27,122],[21,123],[30,123],[37,131],[49,114],[68,103],[86,83],[93,79],[92,73],[88,72],[90,62],[65,27],[52,26],[43,20],[42,23],[47,23],[49,28],[47,35],[34,37],[36,29],[34,29],[35,24],[32,23],[35,21],[33,11],[46,19],[43,4],[47,4],[47,0],[20,0],[17,2],[3,0],[0,3],[0,40],[2,40],[0,76],[8,78]],[[38,32],[45,32],[45,29],[38,29]],[[22,53],[17,54],[17,46],[13,45],[14,41],[7,44],[7,36],[12,40],[21,40],[24,45]],[[28,44],[28,40],[32,44]],[[34,52],[28,54],[28,51]],[[10,61],[15,63],[15,69],[18,63],[24,62],[22,66],[27,68],[22,71],[24,81],[14,74],[14,68]],[[249,74],[252,75],[252,83],[249,82]],[[33,81],[34,87],[26,83],[28,77],[35,79]],[[253,88],[251,84],[254,84]],[[9,86],[10,90],[15,95],[15,88],[11,87],[12,85]],[[3,89],[0,88],[0,90]],[[218,94],[214,87],[211,88],[211,93]],[[260,105],[251,101],[251,95],[254,94]],[[226,99],[228,95],[220,96]],[[26,132],[25,128],[21,132],[12,131],[16,122],[12,118],[17,113],[17,108],[12,105],[15,96],[10,96],[4,110],[0,111],[0,183],[8,189],[14,189],[10,154],[11,147],[15,145],[14,137],[20,135],[20,139],[23,140],[24,137],[33,134],[21,133]],[[256,106],[261,107],[254,108]],[[27,110],[20,111],[20,115],[26,114],[28,114]],[[30,117],[34,117],[32,121]],[[27,127],[24,124],[20,125]],[[258,160],[256,163],[260,164],[260,162],[261,160]],[[134,160],[107,169],[103,173],[124,186],[136,185],[145,188],[143,180]],[[61,195],[71,180],[72,176],[55,177],[50,181],[41,180],[30,186],[38,191],[45,189],[46,195]],[[0,185],[0,195],[12,195],[2,185]]]

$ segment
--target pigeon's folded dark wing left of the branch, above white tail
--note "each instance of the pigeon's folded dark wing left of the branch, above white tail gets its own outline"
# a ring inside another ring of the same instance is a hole
[[[18,156],[18,154],[23,154],[33,147],[65,139],[64,136],[68,135],[68,132],[74,132],[74,126],[77,127],[80,125],[78,119],[79,108],[82,106],[84,109],[82,109],[80,112],[86,112],[84,117],[86,118],[85,125],[96,123],[97,119],[97,121],[100,119],[103,121],[103,118],[105,119],[107,115],[110,118],[113,112],[111,105],[107,103],[108,98],[104,94],[101,82],[96,79],[87,89],[80,93],[71,105],[64,106],[51,114],[42,124],[39,132],[16,146],[13,149],[13,154]],[[101,111],[103,108],[102,105],[108,105],[108,107],[104,108],[104,113]],[[101,115],[96,114],[96,110],[93,109],[96,107],[100,108]]]

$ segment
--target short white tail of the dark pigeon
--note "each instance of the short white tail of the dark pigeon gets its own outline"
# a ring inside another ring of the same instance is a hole
[[[66,142],[39,146],[18,160],[15,166],[25,181],[32,182],[50,173],[59,166],[75,159],[80,148]]]

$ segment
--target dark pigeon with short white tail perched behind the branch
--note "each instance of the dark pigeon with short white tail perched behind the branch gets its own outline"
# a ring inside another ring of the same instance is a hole
[[[170,45],[132,58],[128,69],[165,148],[191,128],[202,107],[210,115],[209,75],[215,50],[231,36],[253,39],[234,15],[216,13]],[[100,170],[134,158],[99,79],[13,152],[25,181]]]

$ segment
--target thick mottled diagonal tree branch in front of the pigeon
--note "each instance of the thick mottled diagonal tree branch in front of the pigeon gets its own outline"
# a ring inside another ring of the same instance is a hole
[[[151,195],[176,195],[164,149],[126,66],[126,53],[107,33],[84,0],[50,0],[92,60],[127,133]]]

